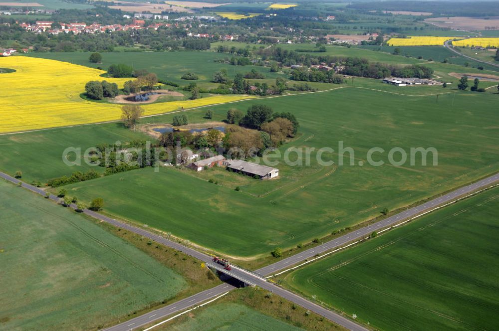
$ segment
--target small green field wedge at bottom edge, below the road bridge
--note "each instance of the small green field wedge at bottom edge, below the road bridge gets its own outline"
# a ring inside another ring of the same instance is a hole
[[[213,305],[213,304],[212,304]],[[263,329],[262,329],[263,328]],[[182,323],[169,325],[165,330],[175,331],[211,331],[211,330],[272,330],[299,331],[300,328],[263,315],[248,306],[236,303],[222,303],[209,306]]]

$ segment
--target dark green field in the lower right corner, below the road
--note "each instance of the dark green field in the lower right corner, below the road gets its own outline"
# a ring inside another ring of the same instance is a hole
[[[497,330],[499,189],[288,274],[379,330]]]

